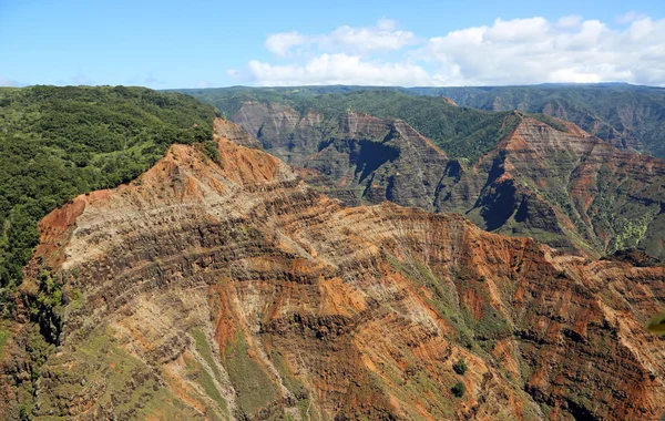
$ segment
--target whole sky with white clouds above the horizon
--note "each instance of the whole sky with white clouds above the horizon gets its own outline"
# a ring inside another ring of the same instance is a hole
[[[0,0],[0,85],[665,85],[663,4]]]

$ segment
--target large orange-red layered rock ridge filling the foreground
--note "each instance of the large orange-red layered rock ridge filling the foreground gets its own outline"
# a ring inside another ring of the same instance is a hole
[[[426,142],[399,122],[354,119],[348,133]],[[665,299],[663,267],[562,255],[388,202],[341,207],[279,160],[217,142],[218,163],[175,145],[130,185],[40,224],[23,290],[48,271],[65,304],[37,419],[665,409],[663,341],[643,329]],[[10,342],[4,374],[18,352]]]

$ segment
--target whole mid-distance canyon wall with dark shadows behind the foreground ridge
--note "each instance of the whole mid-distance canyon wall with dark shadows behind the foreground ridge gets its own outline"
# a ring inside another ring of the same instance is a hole
[[[515,112],[505,122],[512,133],[467,163],[449,160],[400,120],[349,113],[326,121],[259,103],[246,103],[234,120],[347,205],[389,199],[596,257],[627,247],[665,257],[665,163],[571,123],[555,127]]]

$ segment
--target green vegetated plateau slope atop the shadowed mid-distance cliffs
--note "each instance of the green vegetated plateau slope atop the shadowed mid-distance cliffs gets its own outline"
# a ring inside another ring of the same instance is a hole
[[[386,119],[402,119],[432,138],[452,157],[478,160],[490,152],[519,123],[511,112],[490,112],[451,105],[440,97],[416,96],[396,90],[361,90],[349,93],[293,92],[280,89],[229,89],[184,91],[208,102],[232,117],[246,101],[274,102],[300,113],[316,110],[337,121],[349,110]]]

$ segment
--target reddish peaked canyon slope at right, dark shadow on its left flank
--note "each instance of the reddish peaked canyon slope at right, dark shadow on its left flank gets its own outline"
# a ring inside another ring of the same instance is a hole
[[[665,163],[620,151],[573,124],[524,117],[482,161],[488,184],[470,216],[480,226],[571,242],[601,254],[641,246],[663,256]],[[481,164],[482,165],[482,164]]]

